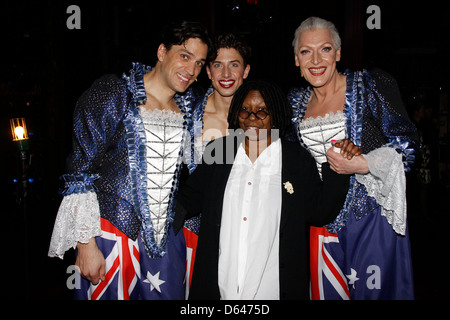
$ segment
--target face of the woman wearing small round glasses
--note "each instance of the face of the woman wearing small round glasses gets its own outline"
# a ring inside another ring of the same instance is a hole
[[[261,93],[257,90],[250,91],[242,103],[241,110],[253,112],[247,119],[238,117],[239,126],[242,130],[244,130],[246,138],[250,141],[261,141],[267,139],[267,145],[269,145],[271,139],[270,130],[272,127],[270,115],[267,115],[264,120],[256,117],[256,113],[261,110],[269,113]]]

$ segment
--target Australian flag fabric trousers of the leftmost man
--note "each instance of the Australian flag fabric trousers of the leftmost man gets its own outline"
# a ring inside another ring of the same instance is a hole
[[[81,278],[75,287],[79,300],[183,300],[186,243],[169,229],[167,253],[150,258],[140,238],[131,240],[108,220],[101,219],[97,246],[106,260],[106,277],[97,285]]]

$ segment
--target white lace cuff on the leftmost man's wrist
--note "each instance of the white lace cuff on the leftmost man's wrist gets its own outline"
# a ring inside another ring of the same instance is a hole
[[[92,237],[102,234],[100,208],[95,192],[73,193],[65,196],[56,216],[49,257],[63,258],[78,242],[88,243]]]

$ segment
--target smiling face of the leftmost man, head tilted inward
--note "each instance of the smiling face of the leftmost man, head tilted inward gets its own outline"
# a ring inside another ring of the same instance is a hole
[[[173,45],[170,50],[161,44],[158,60],[168,87],[184,92],[197,79],[206,61],[208,46],[198,38],[190,38],[183,45]]]

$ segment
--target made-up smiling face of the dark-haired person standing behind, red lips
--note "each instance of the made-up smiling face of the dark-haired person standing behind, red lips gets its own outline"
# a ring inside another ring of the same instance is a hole
[[[231,97],[247,78],[250,65],[244,66],[244,59],[236,49],[220,48],[206,71],[214,89],[223,97]]]

